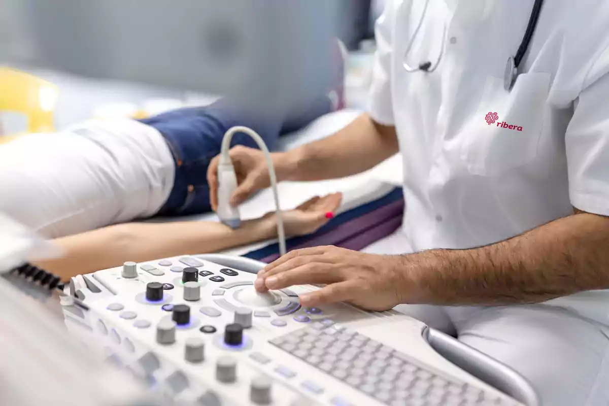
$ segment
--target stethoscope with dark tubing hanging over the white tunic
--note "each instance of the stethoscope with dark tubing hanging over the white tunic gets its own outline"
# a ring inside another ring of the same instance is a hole
[[[518,67],[520,66],[520,63],[523,61],[524,54],[526,54],[527,49],[529,49],[529,44],[530,44],[531,39],[533,38],[533,33],[535,32],[535,27],[537,27],[537,22],[539,21],[539,15],[541,12],[542,4],[543,4],[543,0],[535,0],[535,4],[533,5],[533,11],[531,12],[531,15],[529,17],[529,25],[527,26],[527,30],[524,33],[523,41],[520,43],[520,46],[518,47],[516,56],[514,56],[514,57],[510,56],[509,58],[507,58],[507,64],[505,65],[505,72],[504,72],[504,79],[503,79],[503,85],[504,85],[505,90],[507,90],[507,91],[510,91],[510,89],[512,89],[512,86],[516,82],[516,78],[518,77]],[[406,58],[410,54],[410,50],[412,49],[414,41],[417,38],[418,32],[420,31],[421,26],[423,26],[423,20],[425,19],[428,5],[429,5],[429,0],[426,0],[424,8],[423,8],[423,15],[421,16],[421,19],[417,25],[417,28],[415,29],[415,31],[412,35],[412,38],[410,38],[410,43],[408,44],[408,46],[406,47],[406,51],[404,52],[403,65],[404,65],[404,69],[406,69],[407,72],[423,71],[426,73],[432,73],[435,71],[435,69],[438,68],[438,65],[440,65],[440,61],[442,61],[442,56],[444,55],[444,46],[445,46],[445,42],[446,42],[446,24],[444,24],[444,32],[442,34],[442,44],[440,46],[440,55],[438,55],[438,58],[435,61],[435,63],[432,63],[431,61],[422,61],[421,63],[419,63],[417,68],[412,68],[412,66],[408,65],[408,63],[406,62]]]

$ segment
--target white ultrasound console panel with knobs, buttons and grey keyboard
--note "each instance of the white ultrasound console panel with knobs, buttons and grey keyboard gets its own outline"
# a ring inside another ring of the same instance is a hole
[[[195,256],[128,262],[72,278],[66,323],[183,404],[520,405],[438,355],[420,321],[305,308],[317,288],[260,294],[255,278]]]

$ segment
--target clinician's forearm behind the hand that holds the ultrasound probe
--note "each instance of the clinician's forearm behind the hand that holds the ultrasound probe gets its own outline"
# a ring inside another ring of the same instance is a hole
[[[314,181],[342,178],[364,172],[397,153],[395,127],[357,117],[336,134],[302,145],[284,155],[284,180]]]

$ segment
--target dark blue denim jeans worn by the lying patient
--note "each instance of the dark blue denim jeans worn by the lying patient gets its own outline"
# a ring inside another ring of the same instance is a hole
[[[250,127],[264,139],[269,150],[273,150],[281,134],[304,127],[331,108],[331,101],[324,96],[300,114],[279,116],[253,113],[221,99],[206,107],[181,108],[141,120],[163,135],[175,160],[174,187],[157,215],[211,211],[207,169],[220,153],[222,138],[229,128],[235,125]],[[252,138],[239,133],[233,137],[231,147],[234,145],[258,148]]]

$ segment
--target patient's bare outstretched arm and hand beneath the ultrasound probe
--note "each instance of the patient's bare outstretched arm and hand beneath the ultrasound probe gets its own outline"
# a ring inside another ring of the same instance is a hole
[[[340,194],[315,197],[283,212],[288,236],[313,233],[323,226],[326,212],[340,205]],[[231,229],[216,222],[124,223],[55,239],[64,255],[34,261],[62,280],[83,273],[117,267],[125,261],[150,261],[181,254],[213,253],[276,237],[275,214],[242,222]]]

